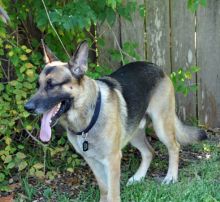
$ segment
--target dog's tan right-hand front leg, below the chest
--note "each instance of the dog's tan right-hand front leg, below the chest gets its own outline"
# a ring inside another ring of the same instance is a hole
[[[114,152],[105,159],[105,170],[108,181],[108,202],[120,202],[120,166],[121,151]]]

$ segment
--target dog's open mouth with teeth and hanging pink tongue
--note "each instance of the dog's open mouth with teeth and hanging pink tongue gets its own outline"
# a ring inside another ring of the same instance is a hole
[[[55,105],[49,111],[43,113],[41,119],[40,139],[42,142],[48,142],[51,139],[51,127],[56,125],[60,116],[70,109],[72,99],[66,99]]]

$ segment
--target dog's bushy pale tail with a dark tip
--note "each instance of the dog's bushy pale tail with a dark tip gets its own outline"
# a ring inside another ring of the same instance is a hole
[[[204,130],[184,125],[177,116],[175,116],[175,129],[177,141],[182,145],[192,144],[208,138]]]

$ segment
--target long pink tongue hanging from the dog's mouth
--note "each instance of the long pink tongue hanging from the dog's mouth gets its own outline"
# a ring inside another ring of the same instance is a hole
[[[50,120],[56,109],[57,106],[55,106],[53,109],[43,114],[43,118],[41,119],[41,129],[40,129],[40,139],[42,142],[50,141],[51,138]]]

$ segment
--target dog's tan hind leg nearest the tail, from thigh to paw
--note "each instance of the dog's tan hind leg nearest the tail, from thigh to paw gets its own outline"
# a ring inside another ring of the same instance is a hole
[[[169,168],[163,183],[176,182],[178,178],[179,148],[175,131],[175,97],[172,82],[166,77],[155,90],[149,103],[154,130],[169,153]]]

